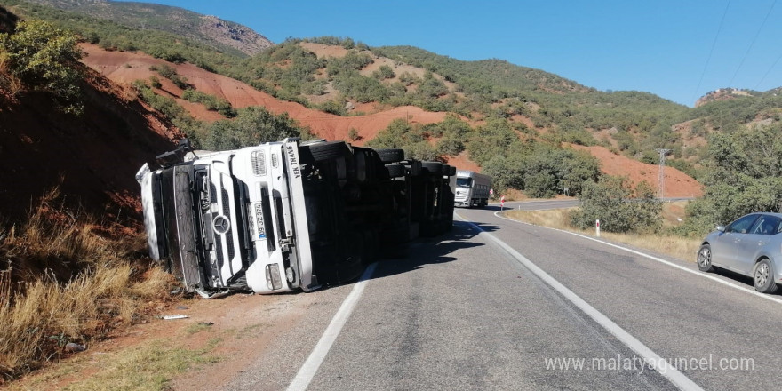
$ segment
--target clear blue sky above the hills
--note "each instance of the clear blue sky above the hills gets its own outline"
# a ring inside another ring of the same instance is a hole
[[[782,2],[159,0],[246,25],[275,44],[349,36],[459,60],[500,59],[599,90],[692,106],[722,87],[782,86]]]

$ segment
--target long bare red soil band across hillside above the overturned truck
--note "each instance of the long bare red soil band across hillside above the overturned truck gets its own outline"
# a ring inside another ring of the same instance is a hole
[[[431,113],[412,106],[392,108],[366,116],[334,116],[305,108],[299,103],[277,100],[248,84],[227,76],[213,74],[191,64],[172,64],[143,53],[107,52],[96,45],[84,44],[82,48],[88,53],[88,56],[83,59],[84,64],[116,83],[131,84],[138,79],[148,80],[149,76],[156,75],[149,70],[150,66],[168,64],[176,68],[180,76],[187,77],[188,83],[193,84],[200,92],[225,98],[235,108],[262,106],[275,114],[288,113],[291,118],[299,121],[299,124],[309,127],[312,132],[327,140],[347,140],[347,133],[353,128],[363,138],[355,144],[362,145],[364,141],[373,139],[380,130],[387,128],[388,124],[395,119],[407,118],[414,124],[433,124],[443,121],[445,117],[445,113]],[[161,82],[166,92],[176,97],[181,96],[180,88],[163,78]],[[196,118],[207,121],[217,119],[214,113],[198,108],[200,105],[187,103],[180,100],[180,104],[188,108]]]

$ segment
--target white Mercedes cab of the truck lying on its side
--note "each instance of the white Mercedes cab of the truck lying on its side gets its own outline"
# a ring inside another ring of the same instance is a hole
[[[297,139],[182,160],[136,175],[153,259],[203,296],[318,287]]]

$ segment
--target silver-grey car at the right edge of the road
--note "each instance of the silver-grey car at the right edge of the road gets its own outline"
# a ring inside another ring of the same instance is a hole
[[[750,213],[719,226],[698,250],[698,268],[751,276],[754,289],[773,293],[782,283],[782,214]]]

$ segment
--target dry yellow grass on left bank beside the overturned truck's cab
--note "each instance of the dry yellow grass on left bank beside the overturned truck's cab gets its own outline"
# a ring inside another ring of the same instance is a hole
[[[94,232],[84,212],[53,206],[56,189],[28,221],[0,232],[0,384],[139,319],[163,298],[170,275],[133,258],[125,239]]]

